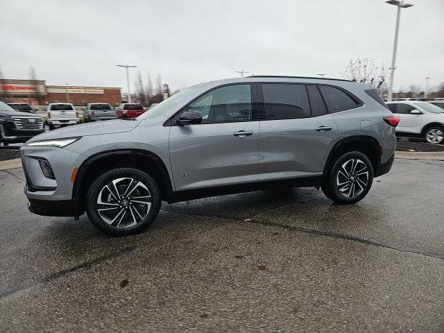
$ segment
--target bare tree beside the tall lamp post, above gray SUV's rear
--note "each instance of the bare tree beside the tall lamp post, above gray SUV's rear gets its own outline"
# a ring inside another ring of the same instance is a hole
[[[345,78],[359,83],[374,85],[382,93],[388,81],[388,71],[384,67],[375,65],[373,58],[350,59],[343,73]]]

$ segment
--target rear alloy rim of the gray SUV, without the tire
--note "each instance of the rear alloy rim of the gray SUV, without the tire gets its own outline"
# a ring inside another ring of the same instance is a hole
[[[341,165],[336,176],[336,187],[345,198],[356,198],[368,186],[368,167],[358,158]]]

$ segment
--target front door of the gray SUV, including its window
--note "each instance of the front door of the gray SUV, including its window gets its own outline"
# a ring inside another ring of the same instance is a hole
[[[169,136],[176,191],[257,182],[259,121],[250,84],[210,90],[182,110],[198,111],[202,123],[178,126]]]

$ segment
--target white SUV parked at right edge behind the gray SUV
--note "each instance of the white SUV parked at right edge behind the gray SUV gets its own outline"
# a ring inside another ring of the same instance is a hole
[[[430,144],[444,143],[444,110],[421,101],[388,102],[388,109],[400,118],[396,135],[422,137]]]

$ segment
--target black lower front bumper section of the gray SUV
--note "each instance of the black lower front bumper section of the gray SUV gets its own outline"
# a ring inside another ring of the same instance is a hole
[[[80,216],[78,200],[36,200],[29,199],[28,210],[42,216]]]

